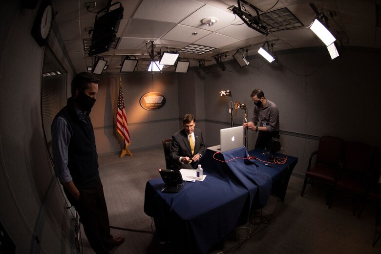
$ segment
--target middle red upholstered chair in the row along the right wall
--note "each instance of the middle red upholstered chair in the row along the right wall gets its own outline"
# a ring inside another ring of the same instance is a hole
[[[365,201],[369,173],[370,147],[359,142],[348,142],[345,146],[343,167],[340,170],[336,188],[329,207],[337,192],[348,194],[354,201],[353,215]]]

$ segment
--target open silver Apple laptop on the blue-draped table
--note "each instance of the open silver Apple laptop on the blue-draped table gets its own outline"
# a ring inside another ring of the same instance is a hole
[[[226,152],[235,148],[243,147],[244,132],[243,126],[220,129],[220,144],[209,147],[212,151]]]

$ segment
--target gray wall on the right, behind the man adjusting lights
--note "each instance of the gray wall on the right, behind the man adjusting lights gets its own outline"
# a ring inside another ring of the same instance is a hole
[[[227,63],[224,72],[213,68],[204,81],[209,145],[218,144],[219,128],[230,127],[230,97],[220,97],[218,92],[231,90],[233,102],[247,104],[251,118],[250,94],[260,88],[279,108],[281,144],[287,154],[299,159],[296,175],[304,175],[320,136],[380,147],[380,53],[348,47],[331,60],[323,47],[306,48],[277,52],[278,66],[255,57],[250,60],[252,66],[239,68],[234,62]],[[234,124],[242,124],[244,110],[234,113]],[[249,149],[254,148],[255,139],[255,132],[249,131]]]

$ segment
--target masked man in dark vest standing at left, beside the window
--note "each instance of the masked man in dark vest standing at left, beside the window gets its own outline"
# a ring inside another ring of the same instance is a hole
[[[103,186],[98,171],[94,130],[89,118],[99,79],[88,72],[77,74],[71,83],[71,97],[51,126],[54,171],[67,199],[77,210],[86,237],[96,254],[124,242],[113,239]]]

